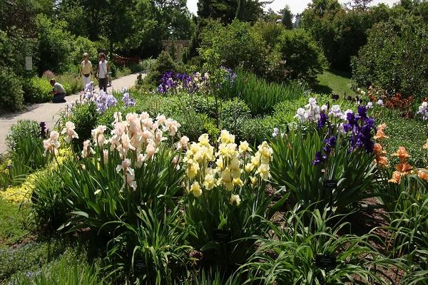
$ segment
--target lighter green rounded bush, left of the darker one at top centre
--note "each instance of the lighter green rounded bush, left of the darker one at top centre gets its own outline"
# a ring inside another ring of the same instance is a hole
[[[234,70],[243,68],[255,73],[263,71],[265,43],[258,33],[252,31],[250,24],[235,20],[232,24],[223,26],[218,21],[211,21],[200,37],[200,56],[208,49],[213,49],[220,57],[220,65]]]

